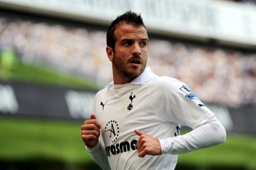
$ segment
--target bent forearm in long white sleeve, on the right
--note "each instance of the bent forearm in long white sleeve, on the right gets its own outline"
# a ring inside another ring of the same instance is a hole
[[[182,154],[200,148],[206,148],[226,140],[226,130],[212,117],[193,131],[173,138],[159,140],[162,154]]]

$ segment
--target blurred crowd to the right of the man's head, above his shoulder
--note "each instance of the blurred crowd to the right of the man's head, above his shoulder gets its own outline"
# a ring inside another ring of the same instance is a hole
[[[169,41],[150,42],[149,65],[185,83],[203,101],[238,107],[256,103],[256,54]]]

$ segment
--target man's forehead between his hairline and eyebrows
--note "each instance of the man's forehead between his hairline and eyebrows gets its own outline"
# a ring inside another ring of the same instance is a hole
[[[142,25],[138,27],[132,24],[118,25],[114,32],[114,35],[117,41],[125,38],[148,39],[147,30]]]

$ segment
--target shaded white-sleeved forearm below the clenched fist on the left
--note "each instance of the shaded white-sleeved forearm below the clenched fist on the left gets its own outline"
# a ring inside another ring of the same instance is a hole
[[[97,163],[102,169],[111,169],[108,163],[108,158],[105,149],[101,146],[100,140],[97,145],[93,148],[86,147],[86,150],[91,154],[92,159]]]

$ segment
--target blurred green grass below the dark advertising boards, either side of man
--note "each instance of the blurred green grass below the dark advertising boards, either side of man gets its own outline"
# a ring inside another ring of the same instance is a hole
[[[76,165],[93,164],[81,139],[82,123],[0,117],[0,160],[44,158]],[[179,155],[178,167],[256,169],[255,160],[255,136],[228,134],[221,145]]]

